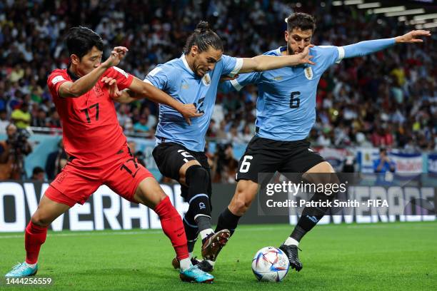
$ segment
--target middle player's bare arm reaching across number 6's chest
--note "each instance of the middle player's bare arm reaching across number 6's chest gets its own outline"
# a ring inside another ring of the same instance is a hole
[[[243,65],[239,73],[251,73],[274,70],[276,68],[282,68],[285,66],[297,66],[303,63],[310,63],[314,65],[308,56],[309,48],[313,45],[306,46],[306,48],[298,54],[290,56],[255,56],[253,58],[243,58]]]

